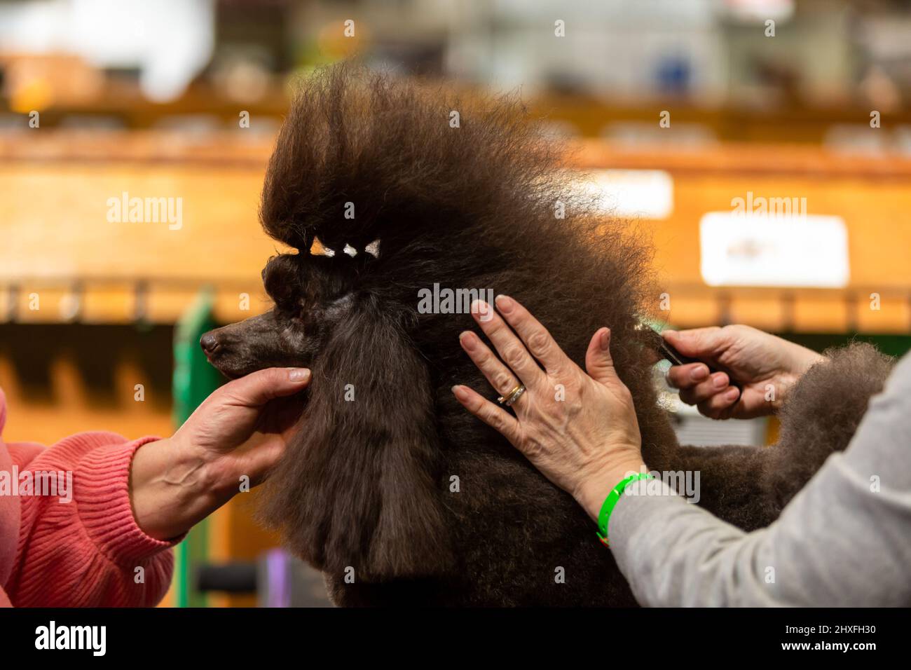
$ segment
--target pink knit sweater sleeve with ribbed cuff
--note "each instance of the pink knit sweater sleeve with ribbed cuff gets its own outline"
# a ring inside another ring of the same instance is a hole
[[[72,500],[20,496],[15,563],[3,587],[18,607],[151,606],[168,590],[172,542],[141,531],[129,501],[135,451],[158,438],[71,436],[53,447],[7,444],[15,466],[72,473]],[[37,480],[37,478],[36,478]],[[59,491],[58,491],[59,492]]]

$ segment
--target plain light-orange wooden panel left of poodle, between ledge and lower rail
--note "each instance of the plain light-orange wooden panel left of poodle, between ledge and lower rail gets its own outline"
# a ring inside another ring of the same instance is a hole
[[[257,219],[261,180],[261,170],[246,168],[117,163],[0,168],[5,239],[0,281],[259,278],[277,246]],[[109,199],[122,200],[124,192],[129,198],[173,199],[175,222],[162,216],[159,222],[108,222],[115,206]]]

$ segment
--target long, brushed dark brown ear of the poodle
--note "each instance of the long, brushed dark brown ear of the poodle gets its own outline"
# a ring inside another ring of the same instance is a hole
[[[394,317],[353,310],[314,366],[265,521],[323,572],[379,582],[452,567],[442,454],[424,360]]]

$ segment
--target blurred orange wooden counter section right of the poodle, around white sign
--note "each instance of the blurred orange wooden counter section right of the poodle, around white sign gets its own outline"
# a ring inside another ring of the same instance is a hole
[[[911,330],[911,160],[845,155],[806,145],[728,144],[630,149],[587,142],[583,170],[664,170],[673,211],[641,220],[655,245],[660,288],[674,325],[747,323],[783,332],[907,333]],[[748,192],[799,197],[806,213],[844,219],[850,280],[844,289],[710,287],[701,277],[700,221],[731,211]],[[870,309],[871,294],[879,309]],[[658,298],[656,297],[656,303]]]

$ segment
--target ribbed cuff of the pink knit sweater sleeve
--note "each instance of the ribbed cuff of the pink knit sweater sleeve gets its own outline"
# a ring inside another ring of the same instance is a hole
[[[138,527],[129,501],[133,455],[142,445],[159,439],[99,446],[79,461],[73,485],[79,519],[98,551],[115,563],[143,561],[183,540],[183,535],[172,541],[149,537]]]

